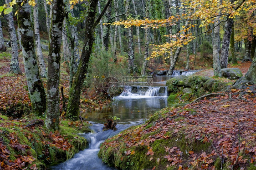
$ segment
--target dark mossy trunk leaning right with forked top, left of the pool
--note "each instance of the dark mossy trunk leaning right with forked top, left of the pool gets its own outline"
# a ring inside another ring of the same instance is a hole
[[[97,25],[95,22],[95,15],[97,13],[98,0],[89,0],[88,15],[85,20],[85,42],[82,49],[81,60],[79,62],[78,70],[75,76],[74,83],[69,92],[68,106],[67,106],[67,118],[71,120],[77,120],[79,115],[80,95],[83,82],[86,78],[88,63],[92,54],[92,45],[94,41],[94,29]],[[111,0],[108,0],[106,7],[110,4]],[[105,9],[105,8],[104,8]],[[104,14],[105,10],[102,11]],[[101,19],[102,15],[98,19]],[[97,20],[99,21],[99,20]]]

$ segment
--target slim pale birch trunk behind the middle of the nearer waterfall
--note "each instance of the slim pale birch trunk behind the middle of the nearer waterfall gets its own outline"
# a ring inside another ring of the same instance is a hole
[[[145,9],[145,18],[149,18],[149,0],[146,0],[146,9]],[[149,28],[145,29],[145,35],[144,35],[144,41],[145,41],[145,47],[144,47],[144,60],[143,60],[143,66],[141,70],[141,76],[144,76],[146,74],[146,69],[148,65],[148,47],[149,47]]]

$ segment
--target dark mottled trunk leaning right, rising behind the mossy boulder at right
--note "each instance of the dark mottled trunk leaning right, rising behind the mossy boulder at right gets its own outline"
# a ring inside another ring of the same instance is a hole
[[[228,55],[229,55],[229,45],[230,45],[230,35],[232,32],[232,25],[234,21],[229,18],[225,23],[224,35],[222,40],[221,54],[220,54],[220,66],[222,69],[228,67]]]

